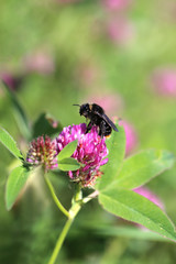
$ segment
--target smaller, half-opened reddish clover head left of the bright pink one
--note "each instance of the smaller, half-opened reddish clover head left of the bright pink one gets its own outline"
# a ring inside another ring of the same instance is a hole
[[[57,167],[56,145],[50,136],[38,136],[30,143],[26,162],[33,166],[43,165],[44,168],[53,169]]]

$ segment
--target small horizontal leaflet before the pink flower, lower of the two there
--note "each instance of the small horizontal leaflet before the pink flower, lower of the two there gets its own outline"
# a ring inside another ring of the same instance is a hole
[[[58,162],[58,168],[64,172],[77,170],[80,164],[73,157],[66,157]]]

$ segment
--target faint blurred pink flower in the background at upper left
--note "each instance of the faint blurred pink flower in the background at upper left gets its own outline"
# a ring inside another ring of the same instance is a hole
[[[35,72],[47,75],[54,72],[55,65],[50,54],[45,52],[35,52],[24,58],[24,68],[28,73]]]

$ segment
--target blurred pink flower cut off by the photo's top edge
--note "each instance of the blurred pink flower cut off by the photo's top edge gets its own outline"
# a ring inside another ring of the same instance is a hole
[[[130,7],[132,0],[103,0],[103,6],[109,10],[121,11]]]

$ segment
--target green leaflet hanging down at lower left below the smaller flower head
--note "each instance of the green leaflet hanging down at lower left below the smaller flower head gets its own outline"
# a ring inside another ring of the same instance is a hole
[[[6,206],[10,210],[29,177],[29,170],[24,167],[15,167],[9,175],[6,188]]]

